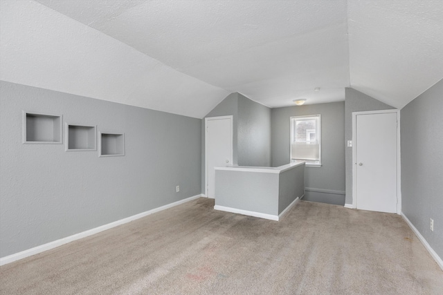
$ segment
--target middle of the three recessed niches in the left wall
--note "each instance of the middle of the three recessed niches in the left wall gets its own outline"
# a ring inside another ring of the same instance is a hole
[[[65,124],[66,151],[96,151],[96,126]]]

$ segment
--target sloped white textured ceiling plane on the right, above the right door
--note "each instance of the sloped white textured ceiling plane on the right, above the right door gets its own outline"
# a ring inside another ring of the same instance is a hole
[[[350,85],[402,108],[443,78],[443,1],[349,1]]]

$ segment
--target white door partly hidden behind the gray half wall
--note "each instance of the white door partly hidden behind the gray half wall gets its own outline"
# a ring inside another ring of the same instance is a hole
[[[215,198],[215,170],[233,162],[233,117],[206,118],[206,196]]]

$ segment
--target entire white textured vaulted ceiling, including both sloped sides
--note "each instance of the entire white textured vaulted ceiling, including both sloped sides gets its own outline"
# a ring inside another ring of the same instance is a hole
[[[1,0],[0,79],[204,117],[269,107],[402,108],[443,78],[442,0]],[[320,88],[320,91],[314,91]]]

